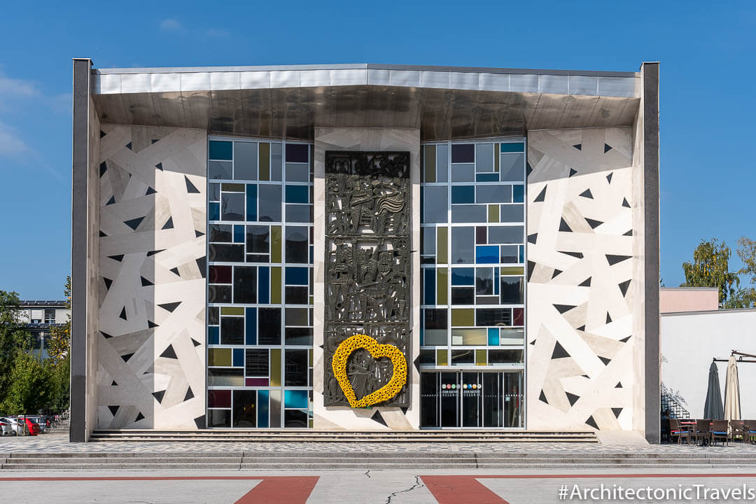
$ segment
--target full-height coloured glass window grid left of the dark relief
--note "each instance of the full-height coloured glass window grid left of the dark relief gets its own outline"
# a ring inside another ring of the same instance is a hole
[[[311,428],[313,147],[208,154],[208,426]]]

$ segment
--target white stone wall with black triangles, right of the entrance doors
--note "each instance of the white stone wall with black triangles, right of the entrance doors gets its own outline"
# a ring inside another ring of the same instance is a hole
[[[528,428],[634,428],[631,138],[528,135]]]

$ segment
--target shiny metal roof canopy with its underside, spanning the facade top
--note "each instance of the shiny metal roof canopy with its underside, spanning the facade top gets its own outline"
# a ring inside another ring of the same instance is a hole
[[[396,65],[92,70],[101,122],[311,140],[317,127],[423,141],[633,125],[640,73]]]

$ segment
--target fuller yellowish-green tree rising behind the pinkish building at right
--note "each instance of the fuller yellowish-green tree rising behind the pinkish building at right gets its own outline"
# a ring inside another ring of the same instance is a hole
[[[685,283],[680,287],[717,287],[720,305],[726,305],[740,285],[738,275],[730,272],[731,255],[727,243],[720,243],[717,238],[702,240],[693,251],[693,261],[683,262]]]

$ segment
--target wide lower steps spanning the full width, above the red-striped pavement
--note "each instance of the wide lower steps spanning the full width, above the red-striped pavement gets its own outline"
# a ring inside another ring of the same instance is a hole
[[[10,453],[0,454],[0,469],[81,470],[296,470],[298,472],[405,469],[490,469],[510,473],[519,469],[575,471],[674,469],[705,472],[711,468],[737,468],[756,472],[756,453],[303,453],[303,452],[202,452],[202,453]]]

